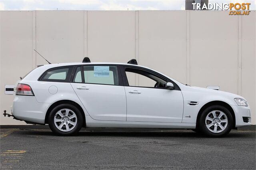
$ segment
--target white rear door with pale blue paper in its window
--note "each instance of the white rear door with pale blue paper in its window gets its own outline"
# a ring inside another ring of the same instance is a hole
[[[126,121],[126,96],[118,65],[78,66],[71,85],[92,119]]]

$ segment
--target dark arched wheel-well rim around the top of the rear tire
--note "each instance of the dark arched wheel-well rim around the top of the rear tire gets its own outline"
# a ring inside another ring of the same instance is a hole
[[[52,103],[52,105],[48,108],[48,110],[46,112],[45,119],[44,119],[45,124],[48,124],[48,116],[49,116],[50,112],[52,111],[52,109],[60,104],[70,104],[70,105],[74,105],[75,107],[77,107],[77,109],[79,109],[79,111],[82,113],[82,116],[83,116],[83,126],[82,127],[86,127],[84,110],[78,103],[71,101],[71,100],[60,100],[60,101],[56,101],[56,102]]]

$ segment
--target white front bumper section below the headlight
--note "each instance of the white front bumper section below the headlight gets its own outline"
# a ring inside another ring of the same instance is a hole
[[[236,117],[236,127],[250,126],[252,123],[250,107],[231,105]],[[243,119],[244,117],[244,119]],[[245,119],[246,118],[246,119]],[[244,121],[244,120],[248,120]]]

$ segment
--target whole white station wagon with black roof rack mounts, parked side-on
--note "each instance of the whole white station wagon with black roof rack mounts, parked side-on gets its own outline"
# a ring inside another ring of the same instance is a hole
[[[60,135],[102,127],[186,128],[224,136],[251,125],[243,97],[184,85],[135,59],[91,63],[85,57],[82,63],[43,65],[18,81],[14,91],[15,119],[49,124]]]

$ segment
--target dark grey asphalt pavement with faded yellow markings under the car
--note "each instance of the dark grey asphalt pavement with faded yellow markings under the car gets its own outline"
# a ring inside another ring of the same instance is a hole
[[[0,169],[256,169],[255,131],[208,138],[192,130],[0,129]]]

